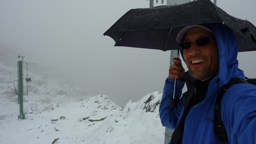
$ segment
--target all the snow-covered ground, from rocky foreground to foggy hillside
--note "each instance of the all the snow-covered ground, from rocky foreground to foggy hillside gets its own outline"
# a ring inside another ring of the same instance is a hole
[[[123,108],[109,96],[91,97],[73,83],[29,72],[26,119],[18,120],[18,96],[10,94],[16,62],[7,64],[6,50],[0,46],[0,144],[163,144],[159,92]]]

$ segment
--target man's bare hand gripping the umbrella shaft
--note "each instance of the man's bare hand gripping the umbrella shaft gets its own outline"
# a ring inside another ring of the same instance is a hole
[[[176,77],[178,80],[183,80],[184,72],[185,72],[185,69],[182,67],[180,58],[173,58],[173,65],[169,69],[169,76],[172,79],[175,79],[175,77]]]

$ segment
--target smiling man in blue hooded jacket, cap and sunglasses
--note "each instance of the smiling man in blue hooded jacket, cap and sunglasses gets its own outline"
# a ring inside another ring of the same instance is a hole
[[[225,89],[221,120],[230,144],[256,143],[256,86],[247,84],[238,68],[238,43],[225,24],[197,24],[184,27],[177,36],[185,72],[179,58],[169,69],[159,114],[163,126],[175,129],[171,144],[221,144],[214,131],[214,111],[218,93],[239,79],[244,83]],[[177,78],[177,107],[170,107],[174,78]],[[184,84],[188,91],[182,94]]]

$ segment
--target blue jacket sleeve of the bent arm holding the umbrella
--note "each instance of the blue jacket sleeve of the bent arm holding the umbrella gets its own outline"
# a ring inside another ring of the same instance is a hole
[[[180,117],[180,113],[182,108],[184,107],[185,100],[184,98],[180,98],[182,94],[182,88],[185,85],[185,82],[181,82],[177,80],[176,85],[176,94],[175,99],[178,99],[178,106],[174,108],[174,117],[173,117],[173,108],[169,106],[170,98],[173,98],[173,89],[174,89],[174,79],[168,77],[165,80],[165,86],[163,88],[163,95],[162,100],[159,106],[159,116],[162,122],[162,125],[170,128],[175,129],[178,118]]]

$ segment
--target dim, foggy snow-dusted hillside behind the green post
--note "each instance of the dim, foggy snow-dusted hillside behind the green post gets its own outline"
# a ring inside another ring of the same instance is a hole
[[[18,95],[10,94],[14,80],[18,79],[17,59],[16,51],[0,44],[0,120],[9,117],[10,114],[17,117],[19,114]],[[26,66],[24,67],[23,74],[26,77]],[[81,101],[91,96],[86,90],[68,81],[51,79],[30,71],[28,73],[32,83],[29,83],[29,95],[23,96],[25,113],[48,110],[56,102],[65,105],[66,102]],[[26,86],[24,82],[24,94],[27,94]]]

